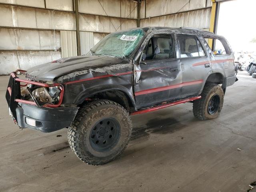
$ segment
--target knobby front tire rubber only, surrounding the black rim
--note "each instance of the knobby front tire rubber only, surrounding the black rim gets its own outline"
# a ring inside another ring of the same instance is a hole
[[[94,124],[102,118],[115,118],[120,124],[120,138],[106,152],[98,152],[89,142]],[[132,133],[132,121],[122,106],[110,100],[96,100],[82,106],[68,128],[68,142],[76,156],[86,164],[100,165],[114,160],[126,148]]]

